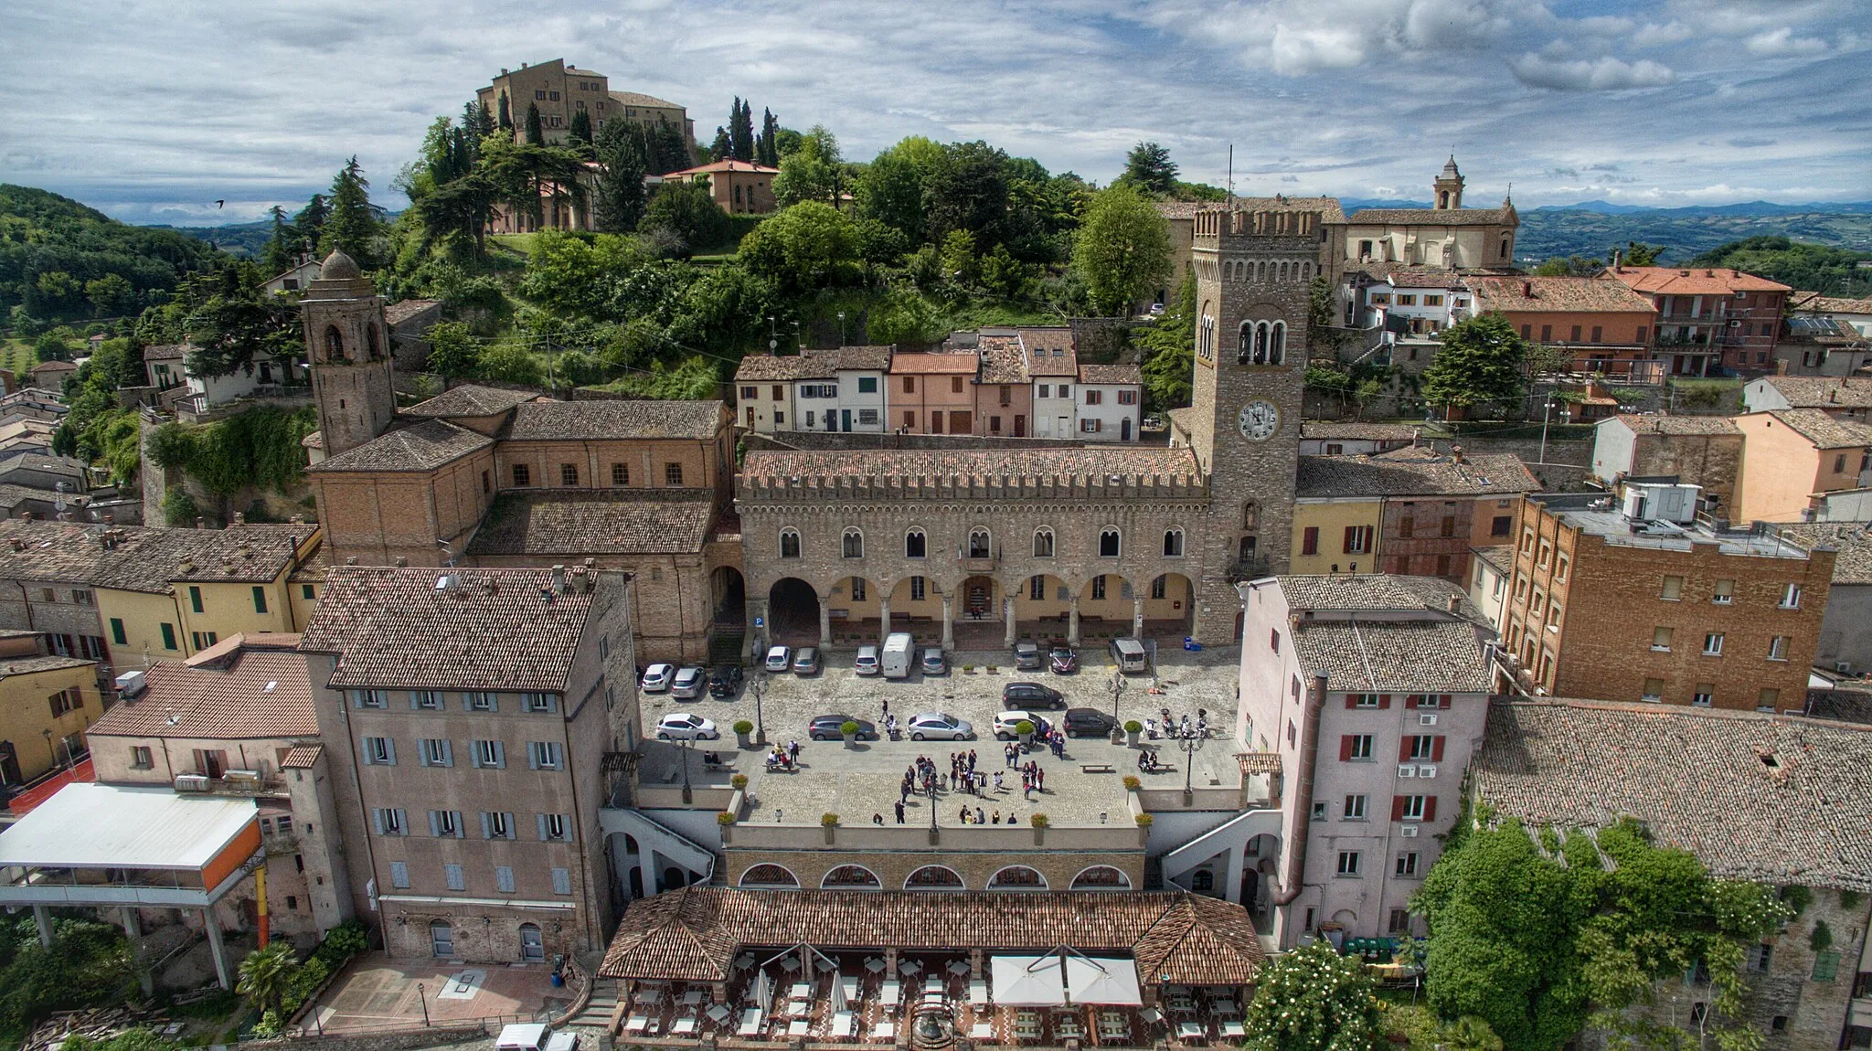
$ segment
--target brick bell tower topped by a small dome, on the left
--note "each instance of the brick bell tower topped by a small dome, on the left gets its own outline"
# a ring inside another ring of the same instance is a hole
[[[397,415],[384,299],[350,256],[333,251],[307,284],[300,318],[318,430],[326,456],[337,456],[384,434]]]

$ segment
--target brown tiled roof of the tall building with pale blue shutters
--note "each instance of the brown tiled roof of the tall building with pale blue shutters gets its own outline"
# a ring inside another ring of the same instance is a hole
[[[442,576],[457,585],[438,589]],[[592,595],[545,569],[331,567],[300,649],[331,686],[565,690]]]

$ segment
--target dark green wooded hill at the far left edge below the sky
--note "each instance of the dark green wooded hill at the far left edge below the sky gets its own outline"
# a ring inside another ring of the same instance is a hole
[[[0,183],[0,320],[15,307],[39,322],[139,314],[215,254],[174,230],[131,226],[56,193]]]

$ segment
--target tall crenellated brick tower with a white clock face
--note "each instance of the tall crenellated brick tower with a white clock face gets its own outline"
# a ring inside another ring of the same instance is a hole
[[[1325,241],[1318,208],[1245,198],[1196,213],[1191,445],[1209,475],[1196,638],[1230,645],[1234,582],[1286,572],[1307,372],[1307,303]]]

